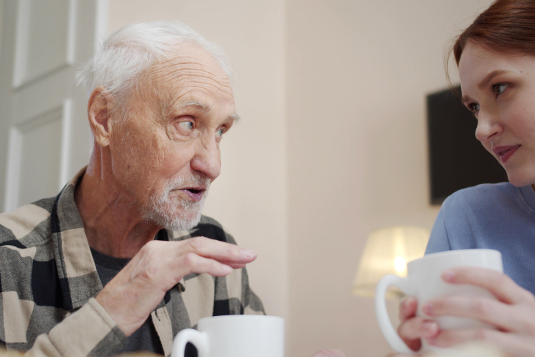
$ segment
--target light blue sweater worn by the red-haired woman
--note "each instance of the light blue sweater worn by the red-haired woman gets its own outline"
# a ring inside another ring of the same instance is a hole
[[[532,186],[485,184],[449,196],[436,217],[426,254],[499,250],[504,272],[535,294],[535,191]]]

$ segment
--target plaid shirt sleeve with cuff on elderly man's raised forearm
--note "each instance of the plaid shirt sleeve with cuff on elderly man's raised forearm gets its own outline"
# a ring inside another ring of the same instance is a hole
[[[41,334],[26,353],[31,357],[112,356],[127,337],[106,310],[94,299]]]

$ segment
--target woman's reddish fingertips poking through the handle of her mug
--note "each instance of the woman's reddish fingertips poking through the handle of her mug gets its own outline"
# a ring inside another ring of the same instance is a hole
[[[400,304],[400,327],[397,334],[413,351],[421,347],[421,339],[432,339],[439,334],[439,324],[416,316],[418,302],[415,297],[406,297]]]

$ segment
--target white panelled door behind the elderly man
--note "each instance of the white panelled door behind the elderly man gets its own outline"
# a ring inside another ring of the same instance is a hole
[[[87,96],[73,84],[107,31],[107,0],[3,0],[0,211],[57,192],[88,162]]]

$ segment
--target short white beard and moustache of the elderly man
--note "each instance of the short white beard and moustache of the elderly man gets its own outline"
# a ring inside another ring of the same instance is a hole
[[[196,187],[204,185],[206,191],[200,201],[194,202],[189,198],[177,193],[170,197],[170,192],[184,187]],[[196,175],[188,178],[176,178],[170,181],[159,196],[150,198],[148,207],[143,207],[143,218],[148,222],[154,222],[162,228],[169,230],[188,230],[200,221],[200,215],[205,206],[205,198],[210,186],[209,178]]]

